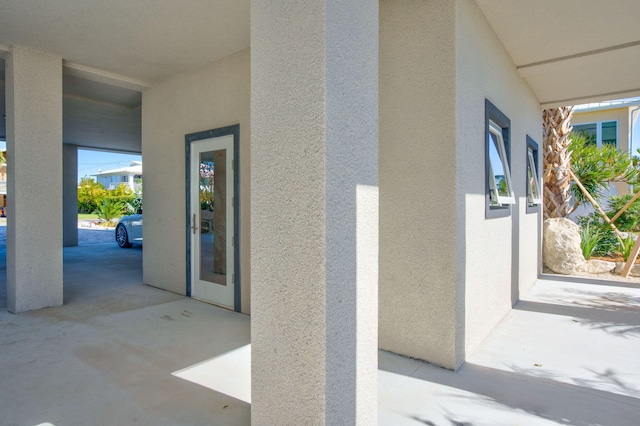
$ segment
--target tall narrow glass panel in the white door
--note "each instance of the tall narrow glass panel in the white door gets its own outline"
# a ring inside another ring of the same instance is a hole
[[[200,153],[200,280],[227,285],[227,151]]]

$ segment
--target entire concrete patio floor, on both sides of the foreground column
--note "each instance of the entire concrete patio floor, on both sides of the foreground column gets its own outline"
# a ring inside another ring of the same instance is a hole
[[[140,247],[64,253],[32,313],[0,264],[0,424],[250,423],[249,317],[142,285]],[[457,372],[381,351],[379,424],[639,424],[639,287],[541,280]]]

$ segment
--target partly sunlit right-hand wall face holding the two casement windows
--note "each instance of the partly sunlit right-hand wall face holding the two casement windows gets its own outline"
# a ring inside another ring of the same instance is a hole
[[[472,0],[456,10],[456,211],[465,287],[465,353],[472,353],[537,278],[539,214],[526,214],[526,135],[542,148],[542,113]],[[509,217],[485,219],[485,98],[511,120]],[[513,295],[513,296],[512,296]]]

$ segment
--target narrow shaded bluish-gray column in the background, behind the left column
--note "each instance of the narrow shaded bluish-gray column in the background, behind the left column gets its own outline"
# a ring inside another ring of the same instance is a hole
[[[62,147],[63,244],[73,247],[78,245],[78,147]]]

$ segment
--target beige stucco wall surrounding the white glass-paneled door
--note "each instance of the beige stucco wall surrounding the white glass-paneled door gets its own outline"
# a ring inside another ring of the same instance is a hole
[[[186,292],[185,135],[240,124],[242,311],[250,311],[249,284],[249,50],[173,77],[144,92],[143,280]]]

